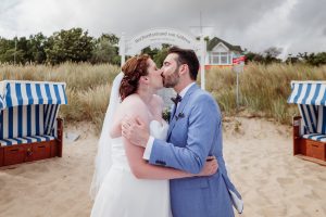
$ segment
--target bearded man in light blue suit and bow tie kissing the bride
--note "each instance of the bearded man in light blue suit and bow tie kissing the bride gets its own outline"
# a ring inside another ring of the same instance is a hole
[[[150,164],[191,174],[200,173],[208,156],[214,155],[218,163],[215,175],[170,181],[172,213],[174,217],[233,217],[231,195],[240,195],[225,168],[218,105],[196,85],[197,55],[192,50],[172,47],[162,71],[164,87],[172,87],[178,93],[172,107],[167,141],[154,139],[139,119],[131,118],[124,120],[123,136],[146,148],[143,158]]]

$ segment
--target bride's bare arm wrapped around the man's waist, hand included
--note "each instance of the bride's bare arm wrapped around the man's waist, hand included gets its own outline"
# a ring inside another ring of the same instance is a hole
[[[138,179],[178,179],[193,176],[211,176],[217,169],[216,161],[208,162],[203,170],[197,175],[174,168],[153,166],[142,159],[143,148],[136,146],[126,139],[124,139],[124,144],[131,173]]]

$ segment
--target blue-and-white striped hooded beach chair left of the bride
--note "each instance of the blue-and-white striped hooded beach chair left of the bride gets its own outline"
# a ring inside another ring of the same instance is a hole
[[[0,166],[62,156],[64,82],[0,81]]]

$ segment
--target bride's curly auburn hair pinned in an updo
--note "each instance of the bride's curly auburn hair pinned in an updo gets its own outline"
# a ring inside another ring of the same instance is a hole
[[[150,56],[147,54],[141,54],[138,56],[130,58],[122,67],[124,77],[120,86],[120,95],[123,101],[129,94],[133,94],[137,91],[139,85],[139,78],[141,76],[148,75],[147,68]]]

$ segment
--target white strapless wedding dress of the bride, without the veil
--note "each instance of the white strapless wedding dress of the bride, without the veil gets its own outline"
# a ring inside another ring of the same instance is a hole
[[[168,125],[150,123],[150,133],[166,140]],[[171,217],[168,180],[137,179],[122,137],[112,140],[112,166],[96,196],[92,217]]]

